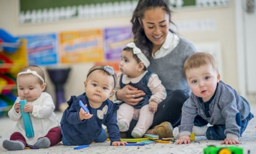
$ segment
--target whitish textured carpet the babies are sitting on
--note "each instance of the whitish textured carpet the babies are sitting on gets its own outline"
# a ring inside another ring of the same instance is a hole
[[[251,111],[256,116],[256,101],[251,102]],[[56,113],[61,118],[61,113]],[[91,144],[89,148],[80,150],[73,150],[73,147],[66,147],[59,143],[57,146],[48,149],[38,150],[21,150],[21,151],[7,151],[2,147],[2,142],[9,139],[12,133],[12,128],[15,123],[8,117],[0,117],[0,153],[203,153],[203,148],[209,145],[221,146],[220,141],[206,140],[203,137],[197,137],[191,144],[176,145],[174,143],[155,143],[146,146],[125,146],[113,147],[109,146],[110,142]],[[241,144],[237,145],[244,149],[244,153],[256,153],[256,117],[254,117],[248,128],[245,130],[243,136],[240,138]]]

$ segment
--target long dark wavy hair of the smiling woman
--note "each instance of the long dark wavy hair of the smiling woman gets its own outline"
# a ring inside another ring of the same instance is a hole
[[[142,25],[140,24],[139,19],[144,18],[145,11],[156,7],[163,8],[163,10],[169,15],[169,22],[172,23],[172,21],[170,20],[171,11],[167,0],[139,0],[135,10],[133,11],[131,19],[132,32],[134,35],[133,39],[135,44],[142,44],[143,46],[147,46],[150,55],[152,52],[152,42],[145,35],[145,32],[142,28]],[[169,31],[174,32],[171,29],[169,29]]]

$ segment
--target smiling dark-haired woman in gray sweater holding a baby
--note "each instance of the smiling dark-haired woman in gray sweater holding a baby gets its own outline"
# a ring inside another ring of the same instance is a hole
[[[173,127],[180,124],[183,102],[189,97],[190,89],[183,74],[187,57],[196,52],[193,44],[169,29],[171,12],[165,0],[140,0],[132,15],[132,32],[135,44],[148,47],[151,72],[158,74],[167,90],[167,98],[155,113],[150,134],[170,137]],[[145,93],[131,85],[116,92],[116,99],[136,105]],[[130,125],[130,130],[134,125]]]

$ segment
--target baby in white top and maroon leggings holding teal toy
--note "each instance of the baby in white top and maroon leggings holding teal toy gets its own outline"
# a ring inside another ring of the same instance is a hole
[[[60,124],[54,113],[55,105],[52,96],[44,92],[45,75],[36,65],[25,66],[17,75],[18,97],[8,116],[16,122],[10,140],[3,141],[7,150],[23,150],[27,144],[37,148],[48,148],[61,141]],[[20,109],[20,100],[27,100],[24,113],[30,114],[34,136],[27,137]]]

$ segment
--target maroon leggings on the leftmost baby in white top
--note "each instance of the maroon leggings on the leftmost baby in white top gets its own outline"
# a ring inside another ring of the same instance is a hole
[[[56,144],[58,144],[58,142],[61,141],[61,138],[62,138],[61,128],[60,127],[55,127],[53,129],[50,129],[48,134],[41,137],[41,138],[44,138],[44,137],[46,137],[50,140],[50,147],[55,146]],[[41,139],[41,138],[39,138],[39,139]],[[14,132],[11,135],[10,140],[13,140],[13,141],[18,140],[18,141],[21,141],[22,143],[24,143],[24,145],[27,144],[23,135],[19,132]]]

